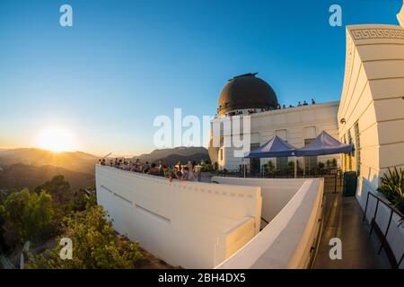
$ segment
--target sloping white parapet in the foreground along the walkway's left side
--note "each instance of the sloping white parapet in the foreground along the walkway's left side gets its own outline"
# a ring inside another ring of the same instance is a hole
[[[322,178],[306,179],[259,235],[216,268],[307,267],[310,249],[320,228],[323,189]]]

